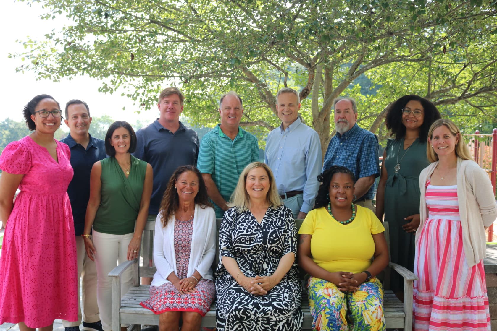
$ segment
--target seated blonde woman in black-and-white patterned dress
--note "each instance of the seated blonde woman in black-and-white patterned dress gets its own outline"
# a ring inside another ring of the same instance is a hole
[[[250,163],[219,231],[217,331],[301,330],[297,229],[269,167]]]

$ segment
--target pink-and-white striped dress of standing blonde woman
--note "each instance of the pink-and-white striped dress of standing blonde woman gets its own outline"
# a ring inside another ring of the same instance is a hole
[[[426,186],[428,219],[421,229],[414,273],[415,331],[490,331],[483,261],[468,267],[456,186]]]

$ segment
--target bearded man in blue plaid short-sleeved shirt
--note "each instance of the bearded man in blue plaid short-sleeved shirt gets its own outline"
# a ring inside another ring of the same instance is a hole
[[[333,109],[336,134],[326,150],[323,172],[332,165],[347,167],[356,179],[355,203],[373,210],[374,180],[380,176],[378,138],[357,125],[354,99],[337,98]]]

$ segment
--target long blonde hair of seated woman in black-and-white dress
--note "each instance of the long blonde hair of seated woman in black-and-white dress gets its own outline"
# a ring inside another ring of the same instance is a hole
[[[281,202],[281,198],[278,195],[278,190],[276,188],[276,181],[274,180],[273,173],[271,169],[264,163],[261,162],[252,162],[247,167],[245,167],[244,171],[240,175],[238,179],[237,188],[231,195],[230,203],[228,205],[230,207],[237,207],[239,211],[246,211],[250,207],[250,197],[248,196],[248,192],[245,188],[247,183],[248,173],[255,168],[263,168],[267,172],[267,177],[269,178],[269,191],[267,192],[267,201],[269,205],[272,207],[279,207],[283,203]]]

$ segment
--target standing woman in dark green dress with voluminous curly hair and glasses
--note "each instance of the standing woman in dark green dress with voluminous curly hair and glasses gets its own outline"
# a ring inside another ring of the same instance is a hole
[[[383,153],[376,216],[385,214],[390,227],[391,261],[413,271],[414,234],[419,225],[419,173],[426,159],[426,137],[431,124],[440,118],[428,100],[405,95],[389,108],[385,124],[394,139],[389,139]],[[402,298],[403,282],[392,274],[392,290]]]

